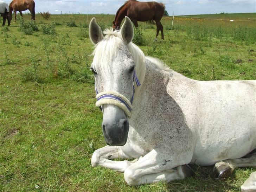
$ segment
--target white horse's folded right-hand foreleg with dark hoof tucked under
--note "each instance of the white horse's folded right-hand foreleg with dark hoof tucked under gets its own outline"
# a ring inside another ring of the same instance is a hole
[[[163,180],[168,183],[194,174],[188,165],[180,165],[182,161],[175,160],[175,157],[175,155],[161,156],[160,153],[152,150],[125,169],[124,179],[128,185],[140,185]]]

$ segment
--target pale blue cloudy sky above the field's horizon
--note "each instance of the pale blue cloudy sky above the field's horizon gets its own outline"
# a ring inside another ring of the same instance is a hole
[[[8,4],[11,0],[4,0]],[[126,0],[34,0],[36,13],[115,14]],[[143,1],[143,0],[140,0]],[[152,1],[152,0],[147,0]],[[169,15],[255,13],[256,0],[155,0],[163,2]]]

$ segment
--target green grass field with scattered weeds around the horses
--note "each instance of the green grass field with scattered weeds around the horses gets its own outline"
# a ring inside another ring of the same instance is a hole
[[[114,19],[92,17],[102,28]],[[164,17],[165,40],[157,42],[155,25],[139,23],[134,42],[189,78],[256,79],[256,13],[189,17],[207,19],[175,17],[171,30],[172,17]],[[256,171],[238,168],[218,180],[209,176],[211,166],[193,166],[195,177],[129,187],[123,173],[91,167],[92,153],[105,142],[87,15],[37,14],[36,24],[29,21],[25,14],[0,27],[0,191],[235,192]]]

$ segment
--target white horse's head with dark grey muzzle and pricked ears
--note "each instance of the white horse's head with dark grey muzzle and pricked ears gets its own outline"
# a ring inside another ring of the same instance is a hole
[[[102,132],[107,145],[122,146],[127,141],[134,96],[135,62],[128,49],[133,39],[132,21],[126,17],[120,31],[108,30],[103,37],[93,18],[90,39],[95,44],[91,71],[95,76],[96,106],[103,111]]]

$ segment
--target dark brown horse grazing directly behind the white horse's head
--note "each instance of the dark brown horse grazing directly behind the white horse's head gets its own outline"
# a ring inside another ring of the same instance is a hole
[[[119,29],[121,22],[125,16],[129,17],[135,27],[138,27],[137,21],[155,21],[157,39],[159,30],[161,30],[162,39],[164,39],[164,27],[160,20],[165,12],[165,5],[155,1],[140,2],[136,0],[126,1],[116,12],[115,21],[113,21],[113,28]]]

